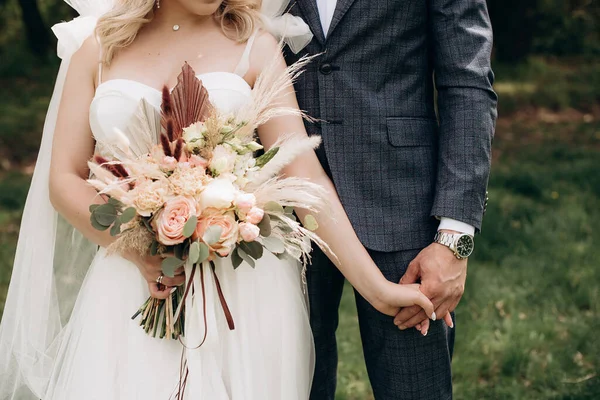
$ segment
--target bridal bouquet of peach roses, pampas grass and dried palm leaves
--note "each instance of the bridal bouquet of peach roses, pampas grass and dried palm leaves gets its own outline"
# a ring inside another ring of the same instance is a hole
[[[192,276],[167,300],[149,298],[133,318],[155,337],[184,334],[185,298],[194,288],[193,275],[210,263],[223,310],[234,329],[222,296],[214,260],[231,257],[234,268],[265,251],[306,262],[310,240],[325,244],[312,232],[316,220],[301,224],[293,207],[317,212],[323,189],[307,180],[280,177],[299,154],[317,147],[318,137],[288,135],[262,155],[256,128],[282,115],[301,115],[275,104],[308,59],[277,74],[267,68],[257,80],[252,99],[236,115],[222,115],[186,63],[173,91],[163,89],[160,111],[141,100],[125,132],[97,143],[89,162],[89,183],[107,198],[92,205],[91,223],[116,237],[109,252],[163,255],[162,271],[174,276],[191,263]],[[273,63],[275,64],[275,63]],[[101,154],[101,155],[100,155]],[[202,282],[204,280],[202,279]]]

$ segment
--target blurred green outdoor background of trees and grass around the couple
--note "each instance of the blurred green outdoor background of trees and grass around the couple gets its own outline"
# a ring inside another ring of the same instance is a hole
[[[500,118],[455,397],[600,399],[600,4],[488,5]],[[62,0],[0,0],[0,312],[59,65],[50,27],[74,16]],[[351,290],[338,332],[337,397],[371,399]]]

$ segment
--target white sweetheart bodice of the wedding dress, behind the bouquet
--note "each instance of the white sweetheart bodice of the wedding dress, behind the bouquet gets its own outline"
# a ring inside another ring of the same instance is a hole
[[[208,90],[209,100],[222,114],[233,114],[250,100],[252,89],[238,74],[210,72],[198,75]],[[144,98],[160,109],[159,90],[129,79],[102,82],[90,105],[90,127],[97,140],[110,141],[115,128],[125,131]]]

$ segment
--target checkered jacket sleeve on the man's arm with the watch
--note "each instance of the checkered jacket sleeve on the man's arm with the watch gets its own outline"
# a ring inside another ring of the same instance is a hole
[[[485,0],[428,0],[439,152],[431,214],[478,230],[486,200],[497,111]]]

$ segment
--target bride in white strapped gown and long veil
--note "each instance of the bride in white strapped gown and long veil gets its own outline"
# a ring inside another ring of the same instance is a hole
[[[131,320],[132,312],[149,294],[165,298],[185,278],[164,277],[165,286],[159,285],[159,256],[107,255],[113,238],[90,225],[88,211],[103,200],[85,181],[95,139],[110,140],[115,127],[124,128],[141,98],[159,107],[160,88],[175,85],[186,61],[220,111],[249,101],[267,60],[280,52],[260,27],[276,24],[261,19],[258,0],[67,2],[77,3],[82,16],[54,28],[63,65],[0,326],[0,399],[167,400],[178,393],[186,399],[308,399],[313,344],[296,262],[265,255],[256,269],[234,271],[229,259],[221,259],[217,274],[236,329],[227,329],[216,295],[208,293],[208,338],[201,347],[194,332],[183,344],[152,338]],[[306,38],[306,29],[296,39]],[[283,70],[283,58],[278,62]],[[292,89],[280,102],[297,107]],[[268,148],[290,132],[306,135],[300,117],[272,120],[258,133]],[[317,216],[318,234],[363,297],[388,315],[418,304],[435,319],[418,285],[383,277],[314,153],[285,173],[327,189],[331,212]]]

